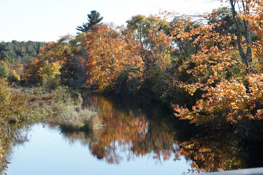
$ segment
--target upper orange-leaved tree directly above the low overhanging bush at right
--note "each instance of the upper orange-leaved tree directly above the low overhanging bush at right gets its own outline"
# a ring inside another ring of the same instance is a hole
[[[225,80],[237,60],[235,52],[231,52],[234,50],[231,34],[213,30],[220,24],[199,24],[198,27],[194,27],[192,23],[191,17],[178,21],[170,33],[181,41],[194,38],[193,45],[198,48],[195,54],[177,68],[174,75],[174,83],[193,95],[197,89]],[[185,30],[186,28],[190,29]],[[178,75],[184,72],[189,74],[189,77],[178,79]]]

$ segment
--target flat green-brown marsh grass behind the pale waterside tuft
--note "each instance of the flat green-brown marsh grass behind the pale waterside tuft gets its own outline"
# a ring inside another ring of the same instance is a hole
[[[48,115],[60,114],[67,106],[78,106],[82,103],[80,93],[67,86],[55,89],[44,87],[12,88],[27,97],[29,111],[24,120],[43,120]]]

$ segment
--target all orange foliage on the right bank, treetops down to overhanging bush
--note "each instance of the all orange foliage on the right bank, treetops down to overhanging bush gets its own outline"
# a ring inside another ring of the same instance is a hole
[[[195,37],[193,44],[198,46],[197,52],[179,66],[172,83],[192,95],[197,89],[203,91],[202,99],[196,102],[192,110],[172,105],[176,116],[189,119],[192,123],[202,124],[220,119],[236,123],[244,118],[262,119],[262,49],[259,47],[262,29],[259,19],[262,18],[263,4],[257,0],[230,0],[229,3],[237,31],[235,34],[215,30],[223,21],[199,24],[199,27],[185,31],[185,27],[193,23],[191,17],[176,23],[171,30],[171,34],[180,40]],[[238,13],[235,5],[239,3],[243,9]],[[209,19],[218,13],[213,11],[202,17]],[[257,36],[256,39],[251,39],[252,34]],[[187,72],[189,79],[178,80],[180,71]]]

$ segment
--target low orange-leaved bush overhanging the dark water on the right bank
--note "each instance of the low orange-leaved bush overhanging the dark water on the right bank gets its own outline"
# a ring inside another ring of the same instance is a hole
[[[206,87],[207,93],[196,102],[192,111],[179,105],[172,105],[176,116],[191,120],[191,123],[203,124],[226,119],[237,123],[240,119],[263,119],[263,74],[245,76],[248,84],[235,79],[224,81],[216,87]]]

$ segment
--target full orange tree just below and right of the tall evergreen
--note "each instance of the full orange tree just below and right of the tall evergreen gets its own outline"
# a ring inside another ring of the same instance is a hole
[[[88,32],[85,37],[89,55],[87,81],[98,84],[99,91],[115,88],[123,80],[119,77],[125,76],[129,70],[143,71],[138,66],[138,56],[133,52],[137,42],[132,35],[123,35],[122,31],[121,27],[104,24]]]

